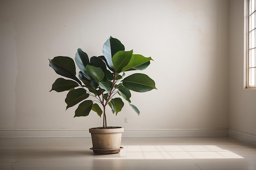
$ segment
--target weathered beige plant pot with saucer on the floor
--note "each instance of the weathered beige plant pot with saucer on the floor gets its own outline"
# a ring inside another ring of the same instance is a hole
[[[92,135],[92,149],[94,153],[118,153],[121,147],[123,127],[113,127],[108,129],[90,128]]]

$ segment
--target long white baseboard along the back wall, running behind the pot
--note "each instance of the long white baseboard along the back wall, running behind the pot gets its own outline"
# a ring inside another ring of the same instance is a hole
[[[227,128],[214,129],[125,129],[123,137],[227,136]],[[88,129],[9,129],[0,137],[90,137]]]

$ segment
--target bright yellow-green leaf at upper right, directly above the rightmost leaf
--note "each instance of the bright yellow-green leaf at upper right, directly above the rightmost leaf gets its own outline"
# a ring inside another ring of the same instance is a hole
[[[143,55],[140,55],[140,54],[132,54],[130,62],[121,71],[127,71],[130,68],[139,68],[138,66],[140,66],[144,63],[147,63],[150,60],[152,60],[151,57],[144,57]],[[145,69],[145,66],[147,67],[149,65],[149,64],[148,65],[147,64],[143,65],[142,68]]]

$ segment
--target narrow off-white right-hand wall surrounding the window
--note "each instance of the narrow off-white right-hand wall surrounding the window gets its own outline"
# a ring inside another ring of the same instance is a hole
[[[229,8],[229,135],[256,143],[256,90],[245,89],[244,0]]]

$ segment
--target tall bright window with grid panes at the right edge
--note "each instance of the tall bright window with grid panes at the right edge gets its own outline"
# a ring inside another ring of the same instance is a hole
[[[256,88],[255,0],[248,0],[247,88]]]

